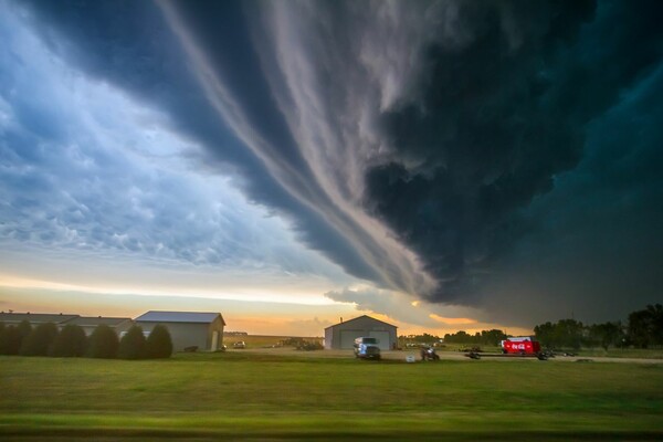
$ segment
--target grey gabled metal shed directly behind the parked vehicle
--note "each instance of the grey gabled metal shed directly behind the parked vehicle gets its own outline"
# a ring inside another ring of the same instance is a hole
[[[364,315],[350,320],[340,322],[325,328],[326,349],[351,349],[355,338],[368,336],[378,339],[378,346],[382,350],[391,350],[397,347],[397,334],[394,325]]]

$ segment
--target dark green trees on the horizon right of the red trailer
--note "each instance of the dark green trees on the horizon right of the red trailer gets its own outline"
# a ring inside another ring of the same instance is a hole
[[[663,306],[648,305],[632,312],[627,324],[608,322],[583,325],[576,319],[560,319],[534,327],[537,340],[544,347],[635,347],[649,348],[663,345]]]

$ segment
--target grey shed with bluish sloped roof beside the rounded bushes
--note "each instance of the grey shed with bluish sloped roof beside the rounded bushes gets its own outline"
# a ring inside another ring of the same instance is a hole
[[[172,338],[172,349],[183,351],[215,351],[223,345],[225,322],[220,313],[200,312],[147,312],[136,318],[144,332],[151,332],[157,324],[165,325]]]

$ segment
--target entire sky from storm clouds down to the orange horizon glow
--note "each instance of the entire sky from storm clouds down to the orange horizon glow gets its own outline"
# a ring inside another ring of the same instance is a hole
[[[661,17],[0,0],[0,309],[624,319],[663,293]]]

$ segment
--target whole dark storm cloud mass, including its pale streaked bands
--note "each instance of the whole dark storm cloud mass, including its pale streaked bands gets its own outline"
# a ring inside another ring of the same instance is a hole
[[[657,0],[17,4],[376,290],[522,326],[662,301]]]

